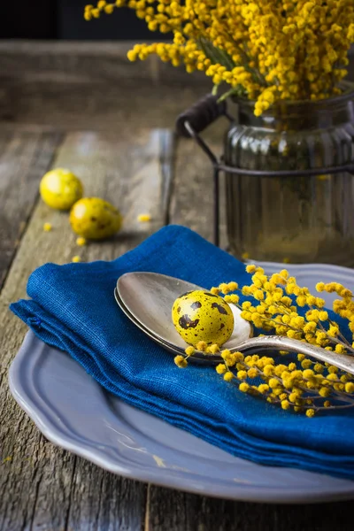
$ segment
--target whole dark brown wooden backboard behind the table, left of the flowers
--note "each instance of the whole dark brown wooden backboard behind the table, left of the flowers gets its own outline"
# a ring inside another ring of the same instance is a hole
[[[0,119],[63,130],[173,128],[212,88],[151,57],[131,63],[129,43],[0,42]]]

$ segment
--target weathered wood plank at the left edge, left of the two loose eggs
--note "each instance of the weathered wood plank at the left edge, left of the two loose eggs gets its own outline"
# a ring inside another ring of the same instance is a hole
[[[58,133],[0,131],[0,289],[60,138]]]

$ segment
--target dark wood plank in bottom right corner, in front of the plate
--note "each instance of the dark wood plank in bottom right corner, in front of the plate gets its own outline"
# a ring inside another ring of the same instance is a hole
[[[350,531],[351,503],[249,504],[150,486],[145,531]]]

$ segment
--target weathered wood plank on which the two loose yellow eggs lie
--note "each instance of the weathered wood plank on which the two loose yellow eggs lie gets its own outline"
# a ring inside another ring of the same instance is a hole
[[[15,404],[7,371],[27,327],[7,306],[26,294],[28,275],[47,261],[64,263],[73,255],[111,259],[131,249],[164,224],[162,166],[172,152],[168,131],[139,129],[119,134],[75,133],[65,136],[53,166],[67,166],[81,177],[87,196],[102,196],[119,206],[125,227],[110,242],[75,243],[63,212],[39,202],[27,226],[0,296],[0,529],[87,531],[142,527],[145,486],[105,473],[81,458],[54,447]],[[148,212],[147,224],[136,221]],[[53,230],[42,231],[44,221]]]

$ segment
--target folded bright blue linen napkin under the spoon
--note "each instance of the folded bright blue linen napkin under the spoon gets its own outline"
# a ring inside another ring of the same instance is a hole
[[[169,226],[112,262],[39,267],[28,281],[31,299],[11,309],[128,404],[237,457],[354,480],[354,411],[308,419],[244,395],[212,367],[179,369],[115,302],[117,279],[132,271],[165,273],[204,288],[250,282],[237,259],[188,228]]]

